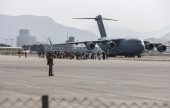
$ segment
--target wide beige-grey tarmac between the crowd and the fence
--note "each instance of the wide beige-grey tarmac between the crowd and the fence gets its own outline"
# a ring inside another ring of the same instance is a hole
[[[45,58],[0,55],[0,97],[37,98],[47,94],[169,103],[170,62],[151,59],[54,59],[54,76],[49,77]]]

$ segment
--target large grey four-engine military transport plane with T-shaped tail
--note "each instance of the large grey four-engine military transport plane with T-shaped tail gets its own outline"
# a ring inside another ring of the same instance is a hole
[[[83,41],[83,42],[69,42],[67,44],[84,44],[88,50],[95,48],[95,45],[98,46],[108,55],[108,56],[125,56],[125,57],[141,57],[141,54],[144,50],[153,50],[154,47],[157,48],[159,52],[164,52],[167,49],[167,46],[161,43],[151,43],[148,41],[142,41],[140,39],[109,39],[107,38],[103,20],[112,20],[114,19],[102,18],[101,15],[96,16],[95,18],[73,18],[73,19],[94,19],[97,22],[100,36],[96,41]]]

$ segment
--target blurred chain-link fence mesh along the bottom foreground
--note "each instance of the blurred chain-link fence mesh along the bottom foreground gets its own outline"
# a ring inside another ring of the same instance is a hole
[[[99,99],[89,98],[49,98],[42,96],[40,99],[28,98],[25,100],[6,98],[0,99],[0,108],[170,108],[170,103],[163,102],[104,102]]]

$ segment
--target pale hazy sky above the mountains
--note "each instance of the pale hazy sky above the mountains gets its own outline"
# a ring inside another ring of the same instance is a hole
[[[0,0],[0,14],[49,16],[56,22],[88,28],[94,21],[72,17],[103,17],[107,26],[128,27],[138,31],[157,30],[170,25],[170,0]]]

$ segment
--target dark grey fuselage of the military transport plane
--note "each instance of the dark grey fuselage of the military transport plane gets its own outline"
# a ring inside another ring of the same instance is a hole
[[[107,38],[100,38],[98,40],[109,40]],[[98,43],[98,46],[110,56],[139,56],[144,51],[144,42],[140,39],[116,39],[114,41],[116,47],[108,49],[105,43]]]

